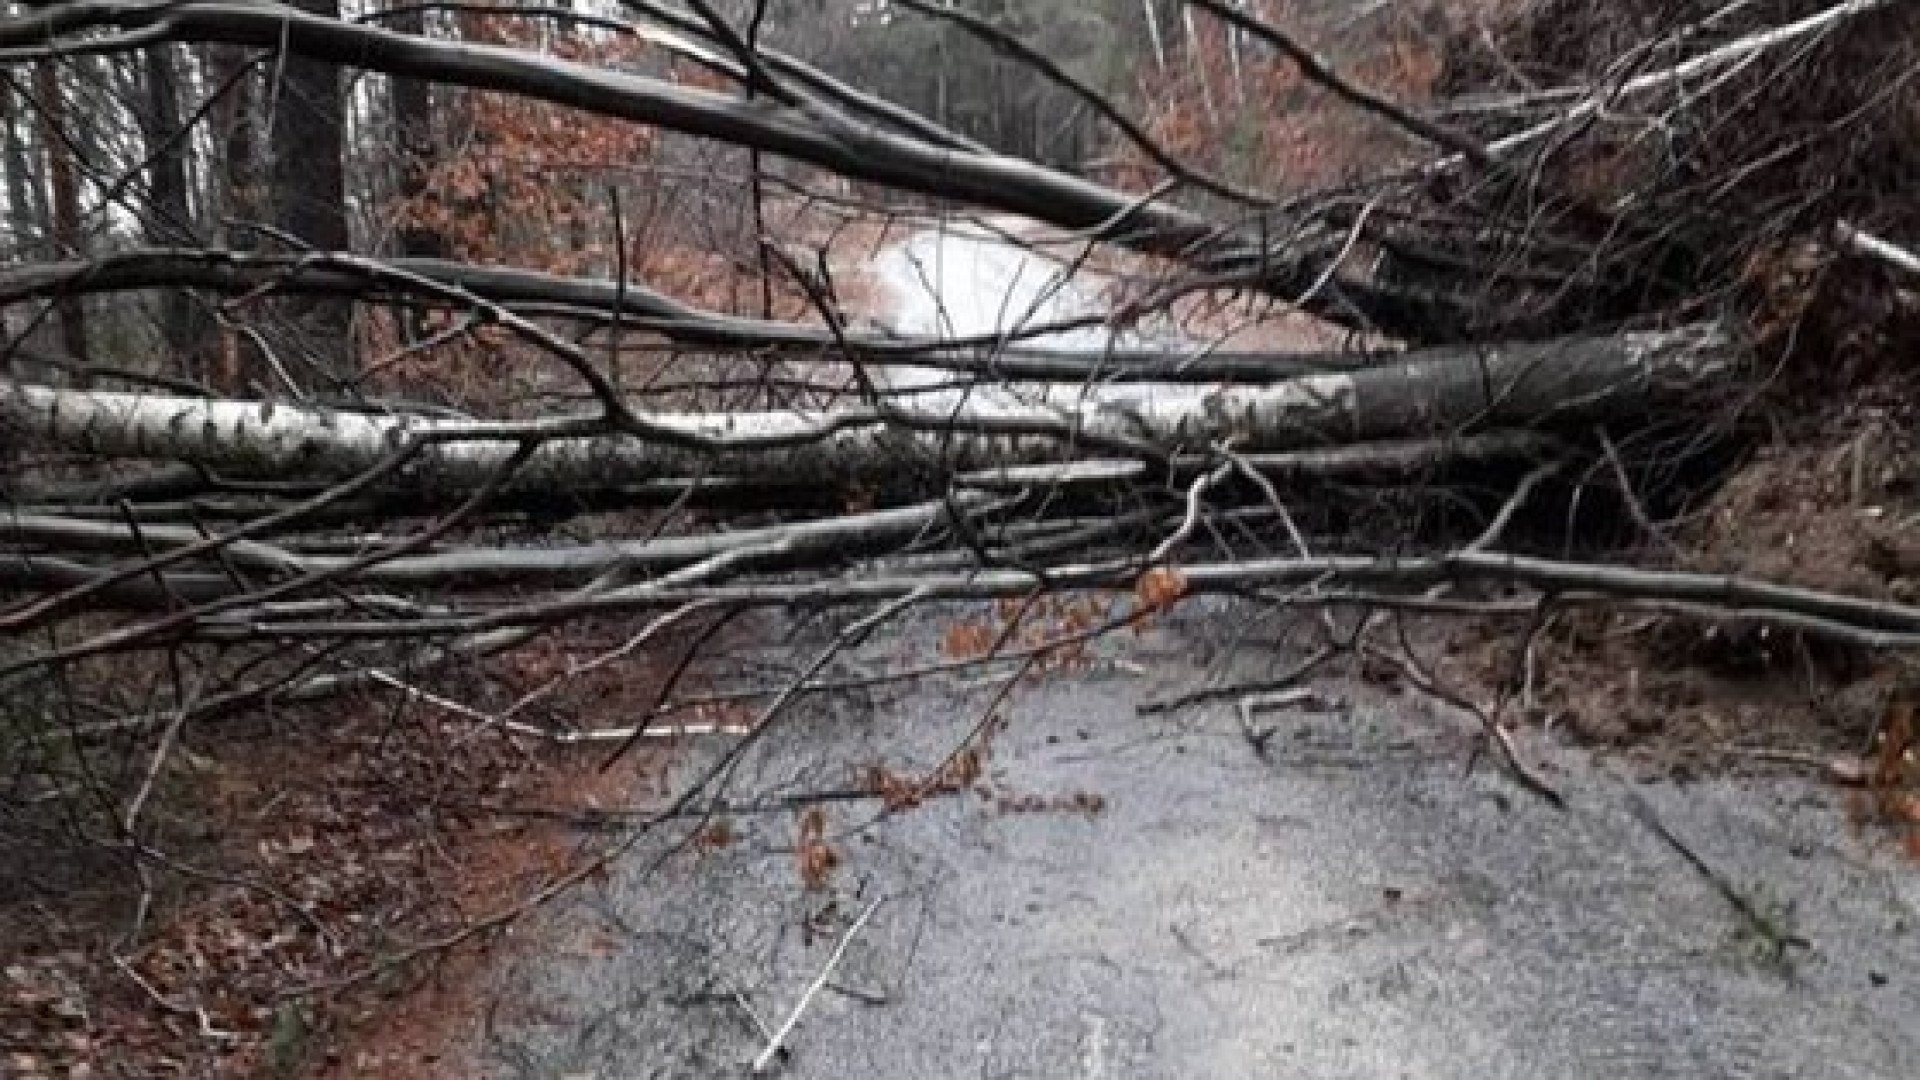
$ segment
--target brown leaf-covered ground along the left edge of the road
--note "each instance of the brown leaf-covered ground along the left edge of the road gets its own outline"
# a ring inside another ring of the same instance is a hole
[[[186,732],[144,859],[106,840],[4,867],[25,888],[0,917],[0,1074],[417,1076],[515,917],[597,859],[564,822],[628,805],[672,757],[645,740],[609,767],[614,744],[480,713],[555,680],[547,717],[647,713],[660,657],[578,669],[614,630],[468,684]],[[42,890],[69,859],[84,869]]]

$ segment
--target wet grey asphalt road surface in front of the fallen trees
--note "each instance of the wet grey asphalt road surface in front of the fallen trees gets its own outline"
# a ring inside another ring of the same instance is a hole
[[[858,663],[925,659],[935,626]],[[801,880],[793,811],[728,815],[724,847],[662,855],[693,824],[649,838],[522,932],[488,1074],[749,1074],[756,1024],[789,1015],[879,899],[774,1072],[1920,1076],[1920,874],[1847,824],[1839,792],[1638,784],[1536,736],[1559,811],[1484,763],[1469,773],[1461,717],[1357,684],[1258,715],[1273,736],[1256,753],[1231,701],[1137,715],[1144,696],[1221,676],[1192,632],[1114,648],[1139,667],[1008,698],[981,778],[993,798],[824,803],[839,857],[826,888]],[[1273,665],[1256,650],[1231,675]],[[845,790],[870,765],[924,773],[993,692],[810,698],[741,759],[728,798]],[[1780,955],[1636,798],[1805,945]]]

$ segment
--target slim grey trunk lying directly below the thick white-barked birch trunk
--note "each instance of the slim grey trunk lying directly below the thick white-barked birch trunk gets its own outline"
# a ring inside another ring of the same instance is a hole
[[[1346,482],[1402,484],[1430,480],[1450,467],[1486,467],[1496,461],[1544,461],[1569,448],[1559,440],[1532,432],[1492,432],[1452,440],[1394,440],[1361,442],[1327,450],[1296,450],[1290,454],[1240,455],[1238,461],[1279,484]],[[1215,469],[1215,461],[1183,457],[1173,461],[1177,480],[1192,480]],[[236,538],[221,544],[215,555],[202,555],[196,569],[152,569],[108,590],[100,600],[129,609],[169,609],[180,601],[205,603],[240,596],[267,580],[298,575],[328,575],[332,580],[384,590],[422,588],[497,588],[515,586],[578,586],[609,571],[630,575],[659,575],[689,567],[728,552],[781,546],[781,559],[762,561],[760,569],[783,565],[826,565],[854,557],[883,555],[908,542],[950,538],[950,515],[979,517],[983,528],[989,517],[1020,507],[1023,492],[1044,488],[1056,505],[1062,488],[1073,484],[1108,486],[1150,480],[1148,467],[1127,459],[1091,459],[1060,465],[1027,465],[989,473],[970,473],[954,479],[960,488],[950,500],[904,505],[870,513],[841,513],[837,517],[803,519],[785,525],[655,536],[645,540],[607,540],[595,544],[532,544],[532,546],[447,546],[426,553],[396,555],[365,565],[357,553],[397,544],[397,536],[353,536],[351,540],[315,538],[307,534],[286,540]],[[689,482],[691,484],[691,482]],[[1006,492],[995,496],[993,492]],[[119,563],[102,557],[152,557],[180,548],[204,546],[205,515],[194,515],[194,527],[159,521],[144,505],[106,503],[86,507],[92,515],[46,513],[33,507],[13,507],[0,515],[0,546],[13,548],[0,555],[0,588],[77,588],[115,577]],[[417,507],[420,513],[426,507]],[[255,509],[255,515],[265,513]],[[1271,513],[1271,511],[1267,511]],[[1131,527],[1160,528],[1177,517],[1173,507],[1137,511]],[[1043,521],[993,527],[996,552],[1025,552],[1039,548],[1083,550],[1089,542],[1089,521],[1102,528],[1121,530],[1127,517],[1098,517],[1081,521]],[[303,519],[311,528],[313,521]],[[1027,544],[1018,544],[1031,532]],[[1058,542],[1060,534],[1068,536]],[[324,534],[323,534],[324,536]],[[1006,548],[1006,542],[1016,542]],[[1039,546],[1039,548],[1035,548]],[[962,563],[973,552],[950,550]],[[84,557],[83,557],[84,555]],[[248,575],[238,577],[234,571]],[[119,575],[123,577],[123,575]],[[257,580],[248,580],[255,578]]]

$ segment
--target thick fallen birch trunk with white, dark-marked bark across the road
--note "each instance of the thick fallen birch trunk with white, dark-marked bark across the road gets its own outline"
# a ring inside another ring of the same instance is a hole
[[[655,438],[591,417],[455,423],[267,402],[0,382],[0,432],[104,457],[186,461],[278,480],[346,479],[405,454],[396,480],[474,488],[538,444],[503,490],[591,490],[653,479],[753,477],[839,484],[1085,455],[1169,461],[1344,446],[1459,430],[1534,429],[1701,405],[1738,373],[1718,325],[1478,350],[1463,363],[1407,354],[1275,386],[1133,386],[1087,402],[1021,404],[941,392],[820,411],[649,413]]]

